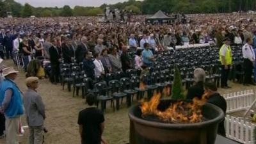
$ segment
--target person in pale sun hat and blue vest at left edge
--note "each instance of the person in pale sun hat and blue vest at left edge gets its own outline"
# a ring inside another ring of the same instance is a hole
[[[21,92],[14,82],[18,71],[13,67],[3,69],[4,80],[0,88],[0,112],[6,118],[6,143],[16,144],[19,134],[20,115],[23,114]]]

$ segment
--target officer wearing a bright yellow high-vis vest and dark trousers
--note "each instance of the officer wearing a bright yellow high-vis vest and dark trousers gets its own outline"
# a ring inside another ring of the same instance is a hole
[[[224,44],[220,48],[221,62],[221,88],[230,88],[228,86],[228,74],[232,68],[232,51],[230,47],[230,38],[225,38]]]

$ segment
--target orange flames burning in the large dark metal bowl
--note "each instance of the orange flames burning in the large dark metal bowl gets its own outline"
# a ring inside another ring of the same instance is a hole
[[[207,98],[205,93],[202,99],[195,98],[192,102],[175,102],[171,104],[165,111],[160,111],[157,106],[160,102],[161,94],[156,93],[150,101],[141,102],[142,116],[155,115],[164,122],[173,123],[196,123],[202,122],[202,106],[204,106]]]

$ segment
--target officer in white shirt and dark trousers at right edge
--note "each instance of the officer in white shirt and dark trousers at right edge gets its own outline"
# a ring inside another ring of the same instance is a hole
[[[249,84],[255,85],[252,81],[252,70],[253,63],[255,61],[255,53],[252,48],[252,38],[246,39],[246,44],[243,46],[243,68],[244,68],[244,85],[250,86]]]

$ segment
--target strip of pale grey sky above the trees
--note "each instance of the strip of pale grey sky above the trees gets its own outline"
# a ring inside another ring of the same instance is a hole
[[[74,6],[100,6],[101,4],[115,4],[118,2],[124,2],[127,0],[15,0],[21,4],[29,3],[35,7],[62,7],[64,5],[69,5],[74,8]]]

